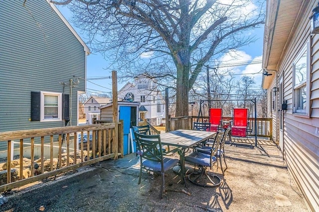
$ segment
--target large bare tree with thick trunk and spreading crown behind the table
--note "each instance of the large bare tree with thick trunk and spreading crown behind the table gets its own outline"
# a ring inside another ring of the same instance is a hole
[[[188,92],[206,63],[255,41],[243,33],[264,23],[264,0],[257,1],[51,0],[70,5],[93,48],[120,71],[147,70],[173,83],[176,116],[188,115]]]

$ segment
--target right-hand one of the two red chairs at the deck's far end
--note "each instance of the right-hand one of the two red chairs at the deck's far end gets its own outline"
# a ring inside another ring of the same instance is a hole
[[[247,137],[248,127],[248,109],[234,108],[233,123],[231,126],[231,135],[238,137]]]

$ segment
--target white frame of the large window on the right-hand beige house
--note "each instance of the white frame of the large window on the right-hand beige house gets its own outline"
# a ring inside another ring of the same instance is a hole
[[[300,53],[293,62],[293,114],[302,117],[310,118],[310,67],[311,67],[311,46],[310,40],[304,45]],[[295,74],[295,64],[302,58],[302,56],[307,54],[307,68],[306,68],[306,80],[296,84],[296,74]],[[306,87],[306,109],[298,109],[300,101],[300,91],[301,88]]]

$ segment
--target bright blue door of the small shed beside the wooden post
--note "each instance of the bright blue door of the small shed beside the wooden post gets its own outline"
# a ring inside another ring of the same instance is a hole
[[[123,120],[123,148],[124,155],[130,153],[129,149],[129,133],[130,133],[130,124],[131,124],[131,107],[129,106],[120,106],[120,119]]]

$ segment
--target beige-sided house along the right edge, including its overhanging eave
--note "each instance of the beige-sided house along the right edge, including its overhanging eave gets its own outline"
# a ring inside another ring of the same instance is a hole
[[[319,211],[318,0],[267,0],[263,88],[274,140],[310,211]],[[270,75],[272,74],[272,75]]]

